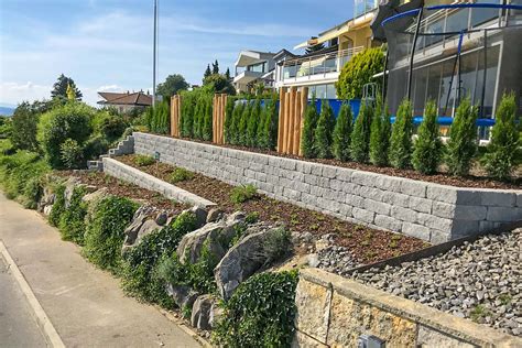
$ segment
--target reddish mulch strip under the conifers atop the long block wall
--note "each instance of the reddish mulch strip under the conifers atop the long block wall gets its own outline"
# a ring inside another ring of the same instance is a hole
[[[156,134],[160,137],[167,137],[164,134]],[[172,138],[172,137],[170,137]],[[494,181],[492,178],[486,177],[483,170],[480,167],[478,163],[474,163],[474,166],[471,168],[471,174],[466,177],[460,177],[460,176],[452,176],[447,173],[437,173],[434,175],[424,175],[418,172],[415,172],[413,170],[396,170],[392,167],[379,167],[374,166],[371,164],[363,164],[363,163],[357,163],[357,162],[342,162],[338,160],[323,160],[323,159],[304,159],[301,156],[296,155],[291,155],[291,154],[282,154],[276,151],[268,151],[268,150],[260,150],[260,149],[252,149],[252,148],[246,148],[246,146],[238,146],[238,145],[218,145],[209,141],[203,141],[203,140],[195,140],[195,139],[186,139],[186,138],[180,138],[182,140],[186,141],[193,141],[193,142],[199,142],[199,143],[206,143],[209,145],[215,145],[215,146],[221,146],[221,148],[230,148],[230,149],[237,149],[237,150],[242,150],[242,151],[249,151],[249,152],[257,152],[257,153],[262,153],[262,154],[269,154],[272,156],[280,156],[280,157],[286,157],[286,159],[294,159],[294,160],[300,160],[300,161],[306,161],[306,162],[315,162],[315,163],[323,163],[323,164],[329,164],[329,165],[335,165],[335,166],[340,166],[340,167],[346,167],[350,170],[359,170],[359,171],[366,171],[366,172],[373,172],[373,173],[379,173],[379,174],[385,174],[390,176],[399,176],[399,177],[406,177],[406,178],[412,178],[416,181],[423,181],[423,182],[429,182],[429,183],[436,183],[436,184],[442,184],[442,185],[449,185],[449,186],[456,186],[456,187],[476,187],[476,188],[498,188],[498,189],[521,189],[522,188],[522,166],[519,166],[515,170],[514,173],[514,178],[511,182],[499,182]],[[445,171],[444,166],[441,167],[442,171]]]

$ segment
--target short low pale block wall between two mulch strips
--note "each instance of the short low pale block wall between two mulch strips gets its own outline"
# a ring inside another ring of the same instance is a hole
[[[113,159],[104,157],[102,161],[105,173],[124,180],[140,187],[159,192],[170,199],[203,207],[211,207],[216,205],[210,200],[207,200],[205,198],[196,196],[193,193],[186,192],[180,187],[165,183],[164,181],[161,181],[152,175],[143,173],[132,166],[123,164]]]

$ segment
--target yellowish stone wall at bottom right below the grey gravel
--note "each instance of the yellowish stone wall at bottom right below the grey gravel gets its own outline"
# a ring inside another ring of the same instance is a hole
[[[522,340],[317,269],[300,273],[294,347],[520,347]]]

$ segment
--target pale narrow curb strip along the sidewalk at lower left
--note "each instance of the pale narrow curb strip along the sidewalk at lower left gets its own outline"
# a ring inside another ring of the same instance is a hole
[[[58,333],[54,328],[53,323],[51,323],[51,319],[45,314],[45,311],[43,309],[42,305],[37,301],[36,296],[34,296],[31,286],[29,285],[28,281],[23,276],[22,272],[18,268],[17,263],[12,259],[11,254],[9,253],[8,249],[6,248],[6,244],[1,239],[0,254],[6,260],[9,270],[11,271],[11,274],[20,286],[20,290],[24,294],[25,298],[28,300],[29,306],[32,309],[31,314],[36,320],[40,329],[44,334],[47,345],[55,348],[65,348],[65,345],[62,341],[62,338],[59,337]]]

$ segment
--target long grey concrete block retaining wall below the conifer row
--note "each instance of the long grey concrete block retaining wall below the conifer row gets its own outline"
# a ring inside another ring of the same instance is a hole
[[[133,133],[134,151],[346,220],[434,243],[522,220],[522,191],[459,188]]]

